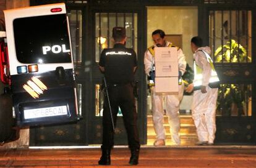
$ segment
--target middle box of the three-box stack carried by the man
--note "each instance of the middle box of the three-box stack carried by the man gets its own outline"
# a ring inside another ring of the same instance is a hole
[[[177,62],[155,62],[156,77],[179,76]]]

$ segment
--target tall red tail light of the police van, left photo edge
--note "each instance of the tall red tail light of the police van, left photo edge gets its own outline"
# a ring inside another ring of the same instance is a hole
[[[4,41],[0,41],[0,76],[2,83],[11,85],[8,49]]]

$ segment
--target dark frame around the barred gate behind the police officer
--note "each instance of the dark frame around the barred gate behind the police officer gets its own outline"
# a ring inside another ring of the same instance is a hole
[[[92,32],[92,36],[90,36],[89,41],[91,41],[90,49],[94,49],[94,36],[95,36],[95,14],[98,12],[114,12],[114,13],[137,13],[137,60],[138,60],[138,68],[135,73],[135,80],[139,81],[139,98],[137,101],[137,113],[138,113],[138,129],[139,129],[139,137],[140,137],[140,143],[141,144],[146,144],[147,143],[147,98],[146,98],[146,93],[147,93],[147,85],[146,85],[146,80],[145,80],[145,73],[144,73],[144,68],[143,68],[143,55],[144,55],[144,49],[147,47],[145,46],[145,34],[144,30],[146,30],[145,22],[139,22],[140,20],[147,20],[146,19],[146,14],[145,14],[145,8],[144,7],[130,7],[127,9],[126,6],[119,6],[118,9],[114,8],[113,6],[95,6],[90,8],[90,17],[89,18],[89,25],[90,30],[89,32]],[[89,51],[89,50],[88,50]],[[95,62],[95,55],[93,50],[90,50],[91,57],[89,58],[92,62],[92,65],[90,66],[91,71],[90,71],[90,90],[95,90],[95,84],[96,83],[101,83],[101,80],[103,78],[103,75],[100,73],[100,70],[98,69],[98,63]],[[85,95],[87,100],[89,100],[88,104],[90,106],[90,111],[88,111],[88,122],[91,122],[92,124],[88,124],[88,135],[93,135],[93,134],[100,134],[102,132],[102,127],[101,122],[102,122],[102,117],[95,117],[95,92],[92,91],[90,94]],[[90,98],[89,98],[90,97]],[[93,128],[93,124],[95,123],[100,123],[98,125],[98,129]],[[117,119],[117,127],[122,124],[122,120]],[[123,125],[123,124],[122,124]],[[124,127],[121,127],[121,130],[123,130]],[[126,132],[125,132],[126,134]],[[119,135],[116,135],[118,137]],[[125,136],[119,136],[119,138],[122,138],[120,144],[123,145],[122,141],[126,142],[127,138]],[[96,139],[96,138],[95,138]],[[95,144],[101,143],[101,140],[93,140],[90,138],[88,140],[88,144]],[[118,144],[118,143],[117,143]],[[124,143],[126,144],[126,143]]]

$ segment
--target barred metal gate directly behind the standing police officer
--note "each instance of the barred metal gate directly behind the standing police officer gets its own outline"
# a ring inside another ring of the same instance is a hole
[[[134,10],[121,10],[114,12],[113,10],[93,10],[93,35],[92,40],[93,45],[93,69],[92,69],[92,79],[93,79],[93,89],[92,102],[94,107],[90,112],[90,136],[89,144],[101,144],[102,141],[102,114],[103,114],[103,93],[100,90],[100,84],[102,83],[103,76],[98,70],[98,62],[100,60],[100,53],[103,49],[108,47],[113,47],[112,29],[114,26],[122,26],[126,28],[126,47],[132,48],[137,53],[137,59],[139,63],[139,70],[135,74],[135,79],[139,84],[139,92],[143,89],[143,61],[141,57],[141,46],[139,36],[142,36],[139,31],[139,27],[142,23],[138,22],[141,18],[141,13]],[[138,67],[139,67],[138,66]],[[144,100],[140,96],[137,98],[137,113],[138,113],[138,126],[140,132],[141,142],[145,143],[145,108],[143,108]],[[117,126],[114,135],[115,145],[127,145],[127,135],[124,123],[122,120],[122,111],[119,109],[117,114]]]

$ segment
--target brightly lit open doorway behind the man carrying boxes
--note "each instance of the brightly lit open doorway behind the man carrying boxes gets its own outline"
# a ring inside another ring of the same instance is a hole
[[[192,67],[193,55],[190,49],[190,38],[197,36],[197,7],[147,7],[147,46],[153,45],[151,33],[157,29],[161,29],[166,34],[166,40],[172,42],[174,46],[180,47],[186,57],[187,66]],[[147,145],[153,145],[156,140],[156,134],[152,121],[152,102],[151,94],[147,93]],[[192,95],[184,94],[180,106],[181,145],[194,145],[197,142],[194,121],[190,112],[190,104]],[[170,126],[168,116],[166,116],[166,108],[164,109],[164,129],[166,145],[174,145],[171,141]]]

